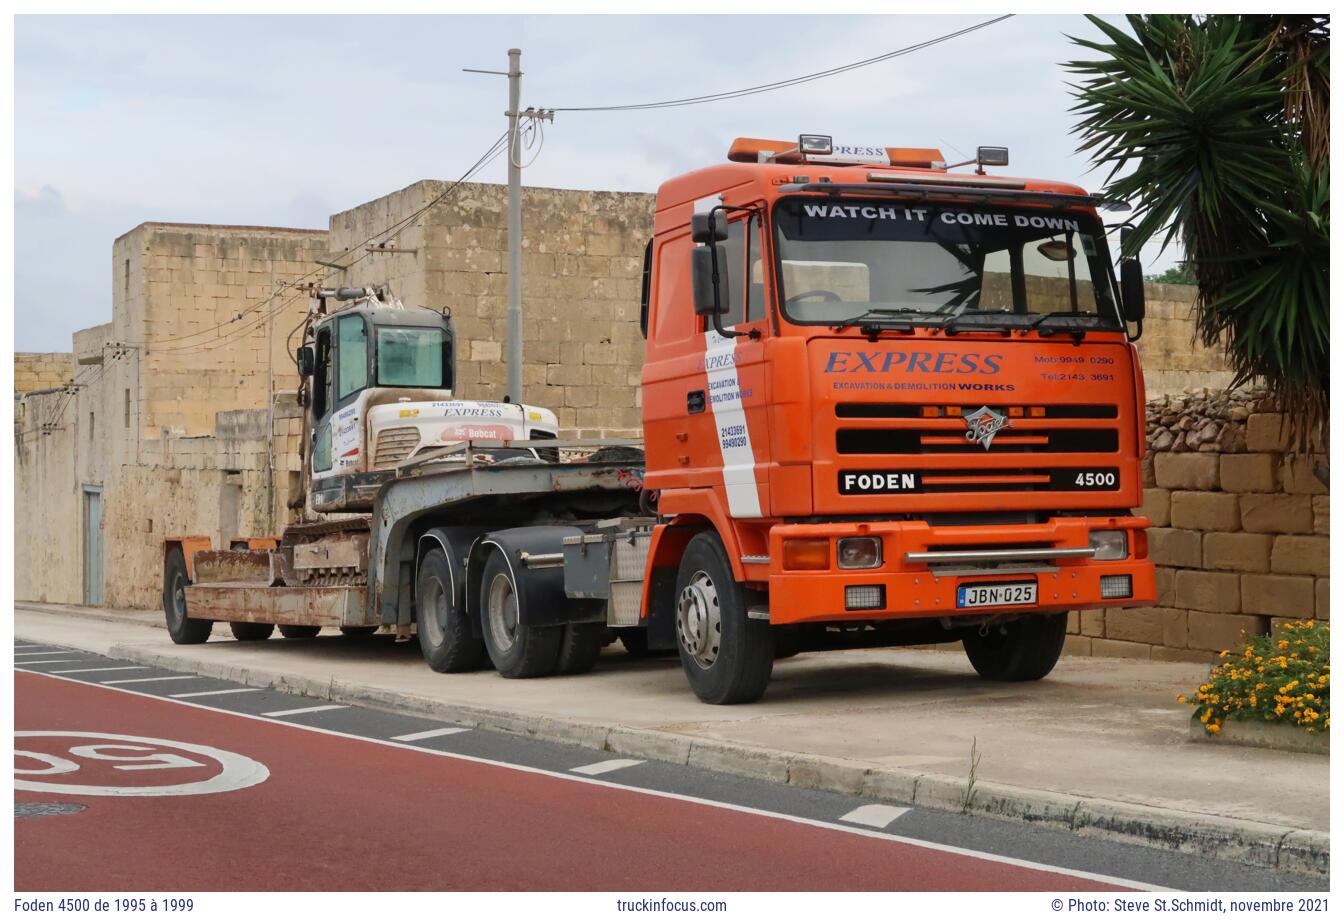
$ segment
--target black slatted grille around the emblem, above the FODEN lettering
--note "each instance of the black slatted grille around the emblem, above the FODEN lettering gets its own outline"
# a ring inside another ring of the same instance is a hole
[[[962,415],[976,406],[911,406],[903,403],[840,403],[836,418],[883,419],[882,427],[841,427],[836,431],[839,454],[1113,454],[1120,450],[1114,423],[1079,422],[1118,418],[1116,406],[989,406],[1007,415],[1003,428],[989,445],[966,441]],[[1064,424],[1052,424],[1052,422]],[[985,471],[981,470],[981,474]]]

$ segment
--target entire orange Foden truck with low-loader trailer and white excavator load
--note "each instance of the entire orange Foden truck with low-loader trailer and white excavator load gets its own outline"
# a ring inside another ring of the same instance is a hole
[[[353,305],[319,302],[297,359],[304,520],[168,541],[173,641],[386,626],[435,670],[540,677],[617,635],[716,704],[808,650],[960,641],[988,680],[1047,676],[1067,611],[1154,599],[1142,275],[1105,201],[976,164],[739,138],[664,183],[642,450],[456,400],[446,317],[324,293]]]

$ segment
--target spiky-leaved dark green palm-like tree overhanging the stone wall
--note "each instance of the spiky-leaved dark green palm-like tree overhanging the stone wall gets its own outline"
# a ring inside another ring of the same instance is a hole
[[[1087,17],[1099,58],[1066,64],[1078,148],[1134,205],[1125,255],[1179,240],[1206,345],[1261,380],[1300,449],[1329,408],[1329,19]]]

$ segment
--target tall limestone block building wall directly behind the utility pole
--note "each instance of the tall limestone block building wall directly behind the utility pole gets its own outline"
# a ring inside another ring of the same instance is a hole
[[[421,181],[331,219],[341,251],[414,214],[445,183]],[[640,419],[640,285],[653,196],[523,189],[523,385],[566,434],[636,436]],[[340,283],[392,283],[407,305],[449,308],[458,336],[458,392],[504,394],[508,293],[505,188],[465,184],[372,252]],[[413,250],[413,251],[401,251]]]

